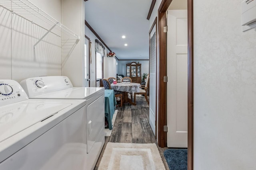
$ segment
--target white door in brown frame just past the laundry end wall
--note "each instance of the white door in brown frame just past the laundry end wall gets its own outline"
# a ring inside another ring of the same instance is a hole
[[[84,39],[84,81],[85,86],[89,87],[90,70],[89,70],[89,57],[90,57],[90,40]]]

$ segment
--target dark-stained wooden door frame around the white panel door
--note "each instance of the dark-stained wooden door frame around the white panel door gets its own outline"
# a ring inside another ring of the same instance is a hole
[[[162,0],[158,9],[158,35],[159,35],[159,78],[158,78],[158,145],[167,147],[167,133],[164,125],[167,125],[167,84],[164,76],[167,75],[167,34],[164,33],[166,26],[166,11],[172,0]],[[188,0],[188,170],[193,170],[193,0]]]

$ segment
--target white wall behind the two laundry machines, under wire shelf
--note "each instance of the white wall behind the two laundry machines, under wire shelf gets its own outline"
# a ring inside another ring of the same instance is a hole
[[[56,20],[61,18],[60,0],[31,0]],[[18,82],[25,78],[61,74],[61,41],[46,30],[0,8],[0,78]]]

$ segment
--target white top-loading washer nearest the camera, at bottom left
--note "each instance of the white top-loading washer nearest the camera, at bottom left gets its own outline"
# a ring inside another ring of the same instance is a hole
[[[86,169],[86,100],[30,100],[0,80],[0,170]]]

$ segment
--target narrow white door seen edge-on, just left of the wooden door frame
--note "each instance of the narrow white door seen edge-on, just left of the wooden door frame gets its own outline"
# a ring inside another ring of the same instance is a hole
[[[150,33],[149,124],[156,135],[156,25]]]

